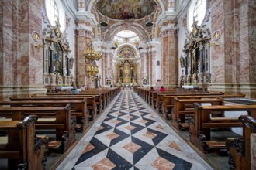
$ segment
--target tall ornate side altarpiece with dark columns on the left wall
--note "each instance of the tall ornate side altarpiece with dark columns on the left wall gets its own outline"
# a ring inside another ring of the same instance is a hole
[[[69,57],[70,52],[67,38],[58,23],[43,30],[43,84],[48,93],[57,86],[71,85],[74,59]]]

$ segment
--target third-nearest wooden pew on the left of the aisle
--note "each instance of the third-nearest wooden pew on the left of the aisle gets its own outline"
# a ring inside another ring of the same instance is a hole
[[[38,98],[37,98],[38,99]],[[67,104],[71,104],[71,115],[76,117],[77,131],[86,131],[89,127],[88,123],[88,111],[87,111],[87,99],[70,99],[65,100],[34,100],[31,97],[19,97],[10,98],[11,101],[0,101],[0,105],[9,105],[10,107],[64,107]]]

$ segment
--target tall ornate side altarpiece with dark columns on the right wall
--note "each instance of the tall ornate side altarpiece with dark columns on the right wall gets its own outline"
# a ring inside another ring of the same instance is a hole
[[[194,22],[192,32],[185,40],[184,57],[180,58],[181,67],[184,68],[185,85],[198,86],[206,91],[210,83],[210,32],[206,26],[196,26]],[[183,76],[183,75],[182,75]]]

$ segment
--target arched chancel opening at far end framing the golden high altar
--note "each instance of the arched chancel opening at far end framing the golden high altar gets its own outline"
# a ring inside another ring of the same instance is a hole
[[[116,86],[137,86],[137,75],[140,75],[140,39],[137,34],[130,30],[123,30],[116,34],[113,39],[114,63]]]

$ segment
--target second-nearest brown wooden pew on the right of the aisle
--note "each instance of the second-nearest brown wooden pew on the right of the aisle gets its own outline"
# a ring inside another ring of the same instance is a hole
[[[226,141],[211,141],[210,128],[242,127],[238,117],[211,117],[224,111],[247,111],[255,119],[256,105],[201,106],[194,104],[195,117],[189,120],[190,141],[202,152],[226,148]]]

